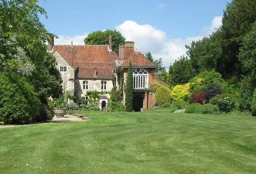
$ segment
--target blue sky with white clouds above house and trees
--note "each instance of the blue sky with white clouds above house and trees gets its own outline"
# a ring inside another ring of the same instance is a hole
[[[221,25],[230,0],[43,0],[45,27],[59,36],[54,44],[84,45],[96,30],[116,29],[142,53],[170,63],[185,54],[185,44],[208,36]]]

